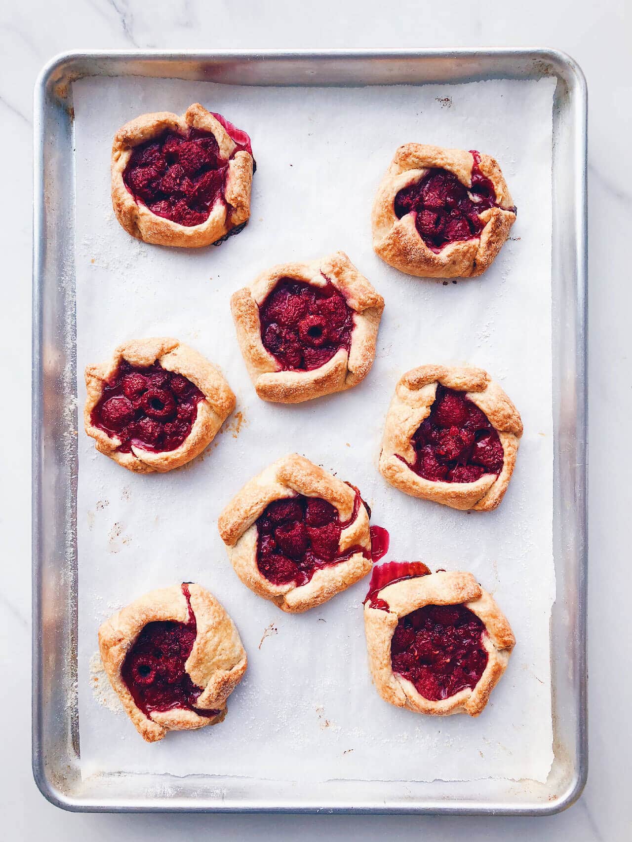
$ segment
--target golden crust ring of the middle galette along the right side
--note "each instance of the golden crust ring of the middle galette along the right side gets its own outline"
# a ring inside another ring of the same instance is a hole
[[[504,451],[498,477],[484,474],[476,482],[434,482],[410,469],[409,465],[415,461],[415,449],[410,440],[421,422],[430,415],[439,383],[458,392],[467,392],[469,400],[482,409],[495,427]],[[506,492],[521,436],[520,413],[486,371],[448,365],[420,365],[400,377],[395,387],[384,424],[379,470],[387,482],[413,497],[434,500],[453,509],[490,511],[501,503]]]

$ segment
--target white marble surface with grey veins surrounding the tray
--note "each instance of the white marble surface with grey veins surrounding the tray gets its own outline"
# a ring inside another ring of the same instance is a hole
[[[629,374],[630,13],[625,0],[427,3],[399,0],[22,0],[0,8],[0,115],[3,131],[4,394],[0,412],[3,504],[0,529],[0,816],[3,838],[176,840],[630,839],[629,510],[632,413]],[[627,6],[627,8],[626,8]],[[590,92],[590,772],[580,801],[560,816],[531,818],[346,818],[72,815],[51,807],[30,772],[29,417],[31,101],[48,59],[72,49],[130,47],[372,47],[541,45],[567,51]],[[626,75],[627,74],[627,75]],[[10,163],[9,163],[10,162]],[[608,626],[604,626],[608,623]],[[605,631],[605,633],[604,633]],[[626,657],[627,656],[627,657]]]

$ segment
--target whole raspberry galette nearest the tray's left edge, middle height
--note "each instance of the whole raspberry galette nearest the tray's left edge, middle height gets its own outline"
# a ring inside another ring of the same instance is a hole
[[[100,453],[138,473],[194,459],[235,408],[221,372],[177,339],[136,339],[88,365],[86,433]]]

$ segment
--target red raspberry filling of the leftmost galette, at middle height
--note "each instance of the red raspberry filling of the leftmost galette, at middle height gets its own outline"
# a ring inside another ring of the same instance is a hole
[[[113,380],[105,384],[91,421],[121,440],[121,453],[130,453],[132,445],[163,453],[185,441],[202,400],[202,392],[185,376],[158,363],[137,368],[123,360]]]

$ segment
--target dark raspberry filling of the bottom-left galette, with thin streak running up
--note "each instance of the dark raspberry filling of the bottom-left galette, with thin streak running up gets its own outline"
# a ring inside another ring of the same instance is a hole
[[[137,706],[148,717],[152,711],[173,711],[183,707],[201,717],[214,717],[219,711],[195,707],[202,688],[194,685],[185,672],[197,624],[191,608],[188,584],[182,585],[189,622],[147,623],[126,654],[121,674]]]

